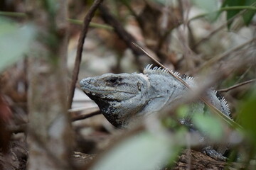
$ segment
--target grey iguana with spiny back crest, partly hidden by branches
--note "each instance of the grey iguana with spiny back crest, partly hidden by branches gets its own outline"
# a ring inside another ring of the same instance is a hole
[[[82,91],[87,94],[100,108],[105,118],[116,127],[127,127],[137,118],[151,113],[157,113],[162,108],[170,106],[171,103],[181,101],[188,92],[186,86],[181,84],[166,69],[148,65],[143,74],[103,74],[99,77],[89,77],[80,81]],[[192,77],[174,74],[188,84],[191,88],[196,86]],[[225,115],[230,114],[228,104],[223,96],[213,90],[206,93],[208,100]],[[204,113],[205,105],[197,102],[197,111],[193,113]],[[193,125],[186,118],[181,120],[182,124],[193,129]],[[225,148],[226,149],[226,148]],[[212,147],[206,147],[203,152],[215,159],[225,159]]]

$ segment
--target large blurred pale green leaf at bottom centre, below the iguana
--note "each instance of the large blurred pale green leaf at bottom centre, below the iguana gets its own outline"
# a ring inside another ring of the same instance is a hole
[[[92,169],[160,169],[167,164],[169,157],[177,154],[176,151],[177,147],[171,147],[164,136],[143,132],[117,144]]]

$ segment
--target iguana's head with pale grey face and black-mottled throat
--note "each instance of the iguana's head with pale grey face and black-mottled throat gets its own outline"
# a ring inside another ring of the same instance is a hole
[[[127,125],[146,103],[148,82],[144,74],[103,74],[82,79],[80,86],[117,127]]]

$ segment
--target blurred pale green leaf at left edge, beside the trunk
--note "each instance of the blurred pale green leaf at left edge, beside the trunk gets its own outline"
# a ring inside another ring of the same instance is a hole
[[[11,21],[0,18],[0,72],[23,57],[35,33],[33,26],[26,25],[19,28]]]

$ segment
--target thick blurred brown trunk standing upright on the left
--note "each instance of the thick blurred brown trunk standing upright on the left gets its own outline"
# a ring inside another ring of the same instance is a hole
[[[28,169],[70,169],[67,7],[66,0],[26,1],[38,31],[28,58]]]

